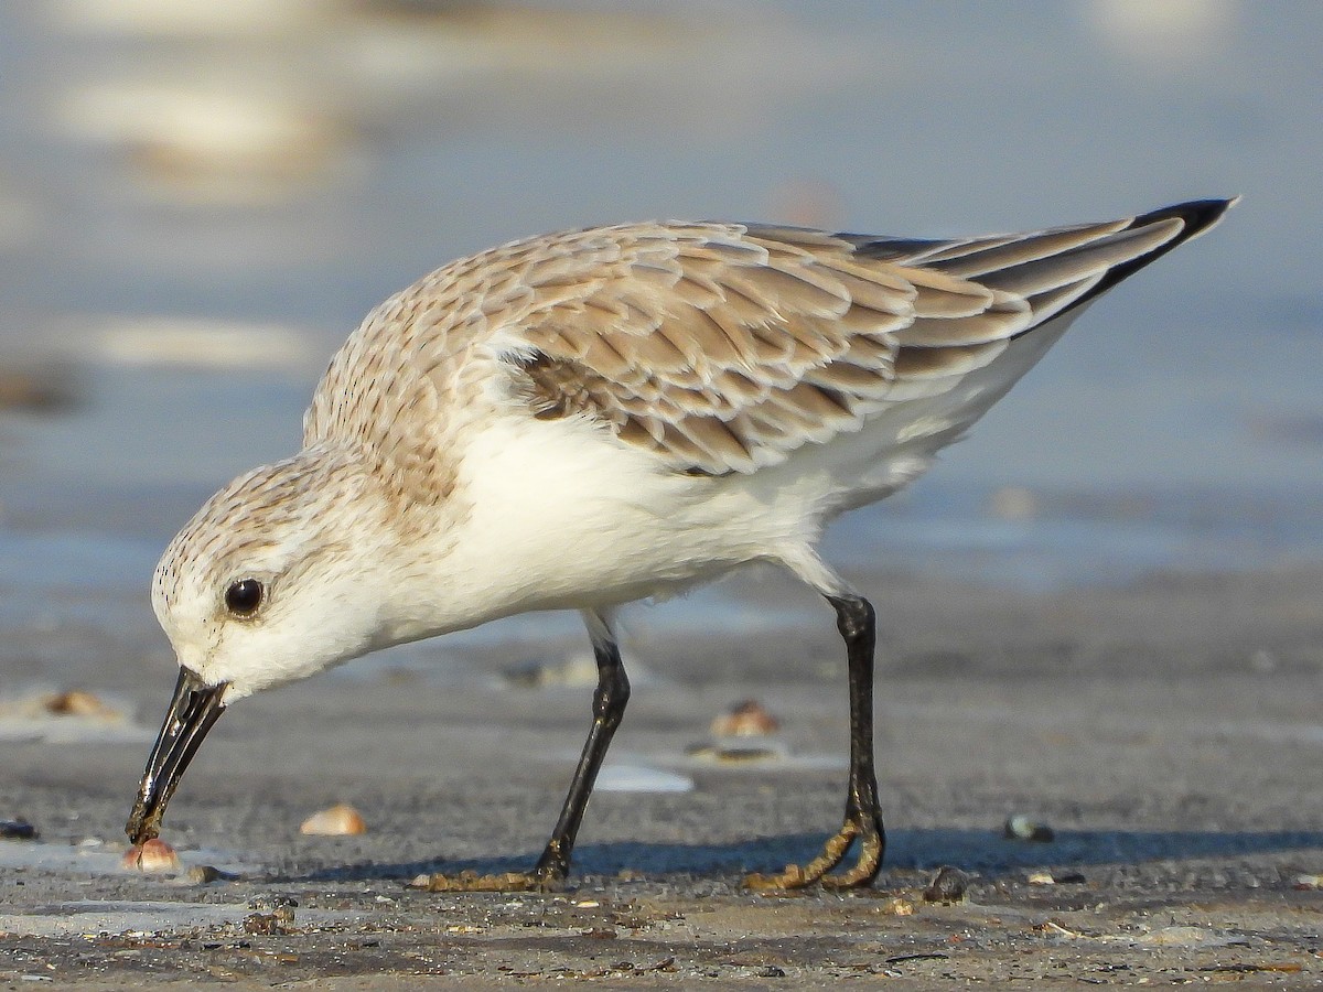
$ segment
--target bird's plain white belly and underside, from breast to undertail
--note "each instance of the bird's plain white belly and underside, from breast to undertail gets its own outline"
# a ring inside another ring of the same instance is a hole
[[[937,395],[751,475],[676,475],[581,421],[495,419],[464,452],[458,488],[468,508],[443,536],[427,632],[665,597],[746,562],[798,558],[832,517],[918,477],[1066,323],[1015,341]]]

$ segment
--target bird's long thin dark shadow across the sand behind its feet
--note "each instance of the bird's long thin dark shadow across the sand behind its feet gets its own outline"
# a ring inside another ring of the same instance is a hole
[[[810,860],[822,849],[824,840],[822,833],[790,833],[737,844],[585,844],[574,852],[574,874],[634,872],[646,878],[667,878],[775,872],[787,864]],[[888,831],[885,866],[925,870],[953,865],[995,880],[1039,866],[1193,861],[1293,850],[1323,850],[1323,832],[1057,831],[1052,841],[1035,843],[1008,839],[990,829],[925,828]],[[480,860],[365,862],[295,873],[282,881],[369,881],[470,870],[503,874],[527,870],[536,860],[537,854],[529,852]]]

